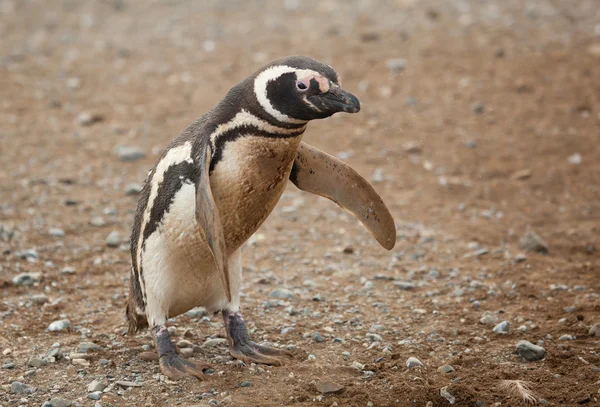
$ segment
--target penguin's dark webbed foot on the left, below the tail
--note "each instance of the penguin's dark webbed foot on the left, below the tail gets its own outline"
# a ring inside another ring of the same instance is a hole
[[[186,360],[177,354],[177,348],[171,341],[169,331],[164,325],[152,328],[156,348],[158,349],[159,364],[162,374],[169,379],[178,380],[186,376],[193,376],[203,380],[204,370],[210,366]]]

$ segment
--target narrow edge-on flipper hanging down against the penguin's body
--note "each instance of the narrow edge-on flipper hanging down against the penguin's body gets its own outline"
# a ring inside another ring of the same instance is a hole
[[[219,269],[221,280],[227,294],[227,301],[231,302],[231,285],[229,281],[229,270],[227,268],[225,236],[223,224],[219,216],[219,209],[215,205],[212,189],[210,187],[210,162],[212,153],[206,145],[200,154],[200,176],[196,184],[196,221],[200,226],[201,233],[206,237],[208,247],[213,255],[215,265]]]

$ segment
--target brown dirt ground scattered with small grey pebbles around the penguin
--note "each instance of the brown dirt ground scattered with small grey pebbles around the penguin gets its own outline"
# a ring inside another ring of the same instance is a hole
[[[502,380],[600,405],[599,24],[594,0],[0,1],[0,405],[524,405]],[[214,372],[165,381],[140,358],[151,337],[124,335],[135,190],[179,131],[289,54],[361,99],[305,141],[374,183],[396,247],[290,185],[246,246],[243,307],[295,358],[234,361],[204,345],[221,317],[198,312],[172,326]],[[546,254],[520,247],[530,232]],[[545,357],[524,361],[520,340]]]

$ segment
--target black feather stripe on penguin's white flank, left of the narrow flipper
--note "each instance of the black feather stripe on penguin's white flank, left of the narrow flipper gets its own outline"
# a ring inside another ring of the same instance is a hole
[[[144,229],[144,237],[142,239],[144,243],[142,245],[142,250],[143,246],[145,246],[146,239],[158,229],[165,214],[169,211],[169,207],[173,203],[175,194],[179,192],[184,184],[195,184],[198,177],[198,168],[194,163],[187,161],[172,165],[165,171],[163,180],[158,184],[156,198],[151,202],[152,208],[150,209],[150,219]]]

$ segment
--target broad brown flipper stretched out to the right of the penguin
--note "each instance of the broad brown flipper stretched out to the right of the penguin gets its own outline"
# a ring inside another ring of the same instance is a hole
[[[290,181],[352,213],[384,248],[391,250],[396,244],[390,211],[371,184],[343,161],[301,142]]]

